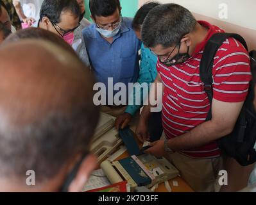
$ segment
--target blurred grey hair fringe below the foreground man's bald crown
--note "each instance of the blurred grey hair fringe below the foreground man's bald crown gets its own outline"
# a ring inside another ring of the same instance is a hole
[[[89,151],[98,113],[89,104],[85,106],[92,111],[82,108],[69,115],[48,113],[26,126],[13,125],[2,119],[0,175],[22,180],[26,179],[27,170],[33,170],[37,183],[43,183],[55,177],[76,154]]]

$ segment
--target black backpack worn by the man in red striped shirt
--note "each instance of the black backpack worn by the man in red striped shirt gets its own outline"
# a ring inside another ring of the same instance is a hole
[[[204,83],[204,90],[207,93],[210,103],[212,103],[212,66],[214,57],[219,47],[225,42],[226,38],[234,37],[241,42],[248,51],[248,47],[243,37],[234,33],[216,33],[207,42],[200,63],[200,78]],[[251,71],[256,72],[256,51],[250,52]],[[240,165],[246,166],[256,161],[256,113],[253,106],[254,85],[256,82],[250,82],[250,88],[246,101],[244,102],[241,113],[237,119],[234,130],[228,136],[217,140],[219,149],[227,156],[237,160]],[[210,109],[206,120],[212,118]]]

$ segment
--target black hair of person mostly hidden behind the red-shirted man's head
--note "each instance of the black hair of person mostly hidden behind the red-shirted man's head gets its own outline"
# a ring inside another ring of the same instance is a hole
[[[141,8],[135,14],[135,17],[132,22],[132,28],[135,30],[140,30],[144,22],[144,19],[148,15],[148,12],[150,12],[152,8],[158,6],[159,4],[160,3],[157,3],[156,1],[152,1],[141,6]]]

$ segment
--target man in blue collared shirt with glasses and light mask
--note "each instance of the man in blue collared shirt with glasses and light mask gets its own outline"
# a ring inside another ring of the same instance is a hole
[[[122,17],[119,0],[90,0],[90,12],[94,24],[83,30],[83,38],[96,79],[106,88],[108,78],[113,78],[114,85],[124,83],[128,96],[128,83],[137,82],[139,75],[141,48],[141,41],[132,29],[132,19]],[[117,92],[115,90],[114,95]],[[128,101],[128,97],[126,99]],[[106,112],[114,116],[125,109],[109,99],[107,106],[103,106],[103,111],[107,109]]]

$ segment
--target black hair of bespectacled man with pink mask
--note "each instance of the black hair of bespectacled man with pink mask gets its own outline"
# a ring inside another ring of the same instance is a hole
[[[80,17],[80,6],[76,0],[44,0],[40,10],[40,21],[42,17],[48,17],[53,23],[60,22],[62,12],[71,12],[74,16]]]

